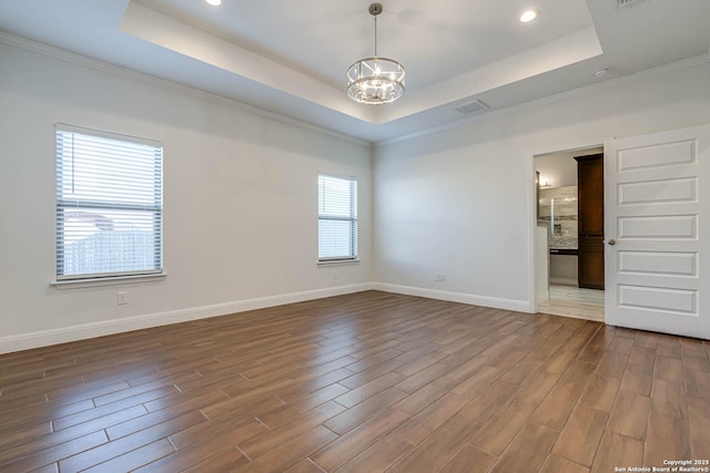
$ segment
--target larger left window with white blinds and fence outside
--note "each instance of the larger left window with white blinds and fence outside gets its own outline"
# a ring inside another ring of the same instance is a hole
[[[162,273],[163,148],[57,125],[57,279]]]

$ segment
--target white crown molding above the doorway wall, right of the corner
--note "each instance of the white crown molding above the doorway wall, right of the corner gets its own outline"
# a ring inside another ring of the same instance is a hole
[[[579,89],[575,89],[571,91],[566,91],[566,92],[560,92],[558,94],[555,95],[548,95],[541,99],[536,99],[536,100],[531,100],[528,102],[523,102],[519,104],[515,104],[515,105],[510,105],[510,106],[506,106],[503,109],[498,109],[498,110],[493,110],[490,112],[486,112],[479,115],[475,115],[475,116],[470,116],[467,119],[463,119],[463,120],[457,120],[455,122],[450,122],[450,123],[446,123],[439,126],[434,126],[427,130],[423,130],[419,132],[415,132],[415,133],[409,133],[406,135],[402,135],[402,136],[397,136],[390,140],[383,140],[379,142],[376,142],[373,144],[374,148],[378,148],[378,147],[384,147],[384,146],[388,146],[392,144],[396,144],[396,143],[402,143],[402,142],[406,142],[413,138],[417,138],[417,137],[423,137],[423,136],[428,136],[428,135],[433,135],[439,132],[444,132],[447,130],[453,130],[459,126],[466,126],[470,123],[474,122],[479,122],[483,120],[488,120],[488,119],[493,119],[495,116],[500,116],[500,115],[509,115],[513,113],[518,113],[521,111],[526,111],[526,110],[531,110],[531,109],[536,109],[538,106],[544,106],[544,105],[549,105],[552,103],[557,103],[557,102],[562,102],[569,99],[574,99],[574,97],[578,97],[578,96],[584,96],[584,95],[588,95],[591,94],[594,92],[598,92],[598,91],[604,91],[604,90],[608,90],[608,89],[615,89],[617,86],[621,86],[621,85],[626,85],[629,83],[633,83],[633,82],[638,82],[638,81],[642,81],[642,80],[647,80],[647,79],[651,79],[651,78],[658,78],[661,75],[666,75],[672,72],[678,72],[678,71],[684,71],[688,69],[692,69],[692,68],[698,68],[701,65],[706,65],[706,64],[710,64],[710,53],[706,53],[706,54],[701,54],[701,55],[697,55],[693,58],[689,58],[689,59],[684,59],[681,61],[677,61],[677,62],[672,62],[670,64],[663,64],[663,65],[659,65],[657,68],[652,68],[652,69],[647,69],[646,71],[640,71],[640,72],[636,72],[633,74],[629,74],[629,75],[623,75],[620,78],[615,78],[615,79],[610,79],[608,81],[605,82],[600,82],[600,83],[596,83],[596,84],[591,84],[591,85],[586,85]]]

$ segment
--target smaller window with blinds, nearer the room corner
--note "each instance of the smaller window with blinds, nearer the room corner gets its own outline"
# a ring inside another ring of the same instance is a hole
[[[318,260],[357,258],[357,181],[318,175]]]

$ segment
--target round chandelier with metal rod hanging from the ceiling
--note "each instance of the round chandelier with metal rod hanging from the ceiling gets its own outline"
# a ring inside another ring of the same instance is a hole
[[[368,9],[375,19],[375,55],[347,69],[347,96],[369,105],[394,102],[404,94],[404,65],[377,55],[377,16],[382,10],[381,3]]]

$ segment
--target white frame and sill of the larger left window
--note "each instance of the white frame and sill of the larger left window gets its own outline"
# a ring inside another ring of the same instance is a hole
[[[132,203],[132,202],[115,202],[115,200],[97,200],[90,198],[63,198],[63,164],[62,160],[65,158],[60,152],[60,132],[62,133],[77,133],[81,135],[91,136],[94,138],[112,140],[122,143],[138,144],[154,147],[153,151],[153,203],[152,205]],[[90,284],[93,286],[101,286],[103,284],[126,284],[133,282],[136,279],[159,279],[165,276],[164,271],[164,208],[163,208],[163,143],[155,140],[143,138],[133,135],[126,135],[122,133],[108,132],[103,130],[90,128],[84,126],[70,125],[65,123],[54,124],[54,165],[55,165],[55,239],[54,239],[54,263],[55,263],[55,278],[51,282],[54,286],[83,286]],[[72,207],[103,210],[128,210],[128,212],[141,212],[143,214],[150,214],[153,220],[153,244],[151,245],[151,253],[153,254],[154,265],[153,268],[125,270],[125,271],[103,271],[103,273],[82,273],[82,274],[64,274],[65,263],[65,246],[64,239],[67,232],[64,229],[65,218],[60,214],[67,212]]]

